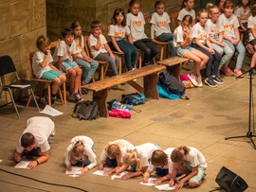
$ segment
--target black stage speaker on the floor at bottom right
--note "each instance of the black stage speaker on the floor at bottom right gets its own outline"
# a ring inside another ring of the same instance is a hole
[[[245,180],[230,171],[225,166],[220,169],[215,182],[228,192],[242,192],[248,187]]]

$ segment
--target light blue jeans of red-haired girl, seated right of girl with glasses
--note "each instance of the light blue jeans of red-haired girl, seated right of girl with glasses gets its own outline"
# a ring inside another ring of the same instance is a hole
[[[223,42],[228,44],[233,52],[235,52],[235,49],[238,51],[238,57],[237,57],[235,69],[241,69],[243,61],[245,59],[245,55],[246,55],[246,48],[244,44],[242,44],[241,41],[239,41],[237,45],[231,44],[229,40],[223,40]]]

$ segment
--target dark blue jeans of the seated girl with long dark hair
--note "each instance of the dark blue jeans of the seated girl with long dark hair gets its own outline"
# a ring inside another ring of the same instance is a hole
[[[115,48],[112,42],[109,42],[108,44],[111,50],[117,51],[117,49]],[[137,60],[136,46],[134,44],[131,44],[123,40],[117,41],[117,44],[119,45],[120,50],[124,52],[124,59],[125,59],[126,67],[128,71],[133,70],[133,68],[135,68],[135,63]]]

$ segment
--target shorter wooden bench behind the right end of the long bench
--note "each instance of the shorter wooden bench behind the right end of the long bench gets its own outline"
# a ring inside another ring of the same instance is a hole
[[[167,71],[169,71],[176,79],[179,79],[181,64],[184,64],[187,61],[189,61],[189,59],[175,56],[174,58],[157,61],[156,63],[166,66]]]

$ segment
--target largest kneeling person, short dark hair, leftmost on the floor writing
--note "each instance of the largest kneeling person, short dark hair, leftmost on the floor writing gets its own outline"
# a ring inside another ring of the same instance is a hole
[[[27,129],[20,137],[13,158],[16,162],[21,161],[23,154],[39,156],[30,162],[27,167],[34,168],[45,163],[49,157],[49,149],[55,135],[55,125],[48,117],[34,116],[27,120]]]

